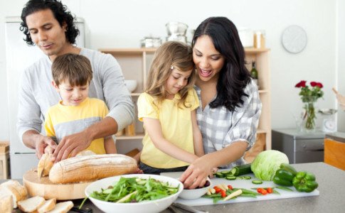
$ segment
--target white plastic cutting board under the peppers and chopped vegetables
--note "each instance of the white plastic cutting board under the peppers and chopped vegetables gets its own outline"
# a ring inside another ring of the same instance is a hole
[[[168,176],[171,178],[179,178],[181,176],[182,172],[176,172],[176,173],[161,173],[161,175]],[[272,181],[263,181],[260,185],[255,185],[252,183],[252,180],[258,180],[255,178],[254,174],[247,175],[252,177],[250,180],[226,180],[225,178],[213,178],[211,179],[211,185],[219,185],[219,184],[225,184],[225,185],[232,185],[234,188],[244,188],[247,190],[251,190],[251,188],[257,188],[257,187],[276,187],[274,182]],[[280,192],[280,195],[277,194],[267,194],[267,195],[258,195],[255,197],[236,197],[235,199],[227,200],[227,201],[218,201],[216,204],[224,204],[224,203],[234,203],[234,202],[250,202],[250,201],[259,201],[259,200],[275,200],[275,199],[285,199],[285,198],[291,198],[291,197],[308,197],[308,196],[317,196],[319,195],[318,190],[314,190],[312,192],[297,192],[294,187],[290,187],[290,189],[293,190],[293,192],[286,191],[286,190],[280,190],[275,189],[277,192]],[[255,190],[253,190],[255,191]],[[196,200],[184,200],[181,198],[178,198],[175,202],[179,202],[181,204],[186,204],[189,206],[201,206],[201,205],[211,205],[214,204],[212,199],[209,198],[198,198]]]

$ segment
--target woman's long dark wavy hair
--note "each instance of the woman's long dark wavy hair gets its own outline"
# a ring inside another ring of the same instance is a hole
[[[196,28],[191,43],[193,48],[201,35],[210,36],[214,47],[224,58],[217,82],[217,97],[210,103],[210,107],[224,106],[234,111],[235,107],[243,104],[242,97],[248,97],[244,89],[250,82],[250,73],[245,67],[245,50],[237,28],[228,18],[211,17]]]

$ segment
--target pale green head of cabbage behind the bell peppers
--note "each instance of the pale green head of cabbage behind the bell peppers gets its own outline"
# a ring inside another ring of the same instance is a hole
[[[285,153],[276,150],[267,150],[259,153],[253,160],[250,168],[256,178],[260,180],[273,180],[275,172],[280,168],[280,164],[289,163],[289,158]]]

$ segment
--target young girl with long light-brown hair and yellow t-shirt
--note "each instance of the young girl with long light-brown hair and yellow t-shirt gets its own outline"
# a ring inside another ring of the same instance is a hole
[[[194,78],[188,45],[171,41],[156,50],[147,89],[138,99],[138,117],[145,129],[139,168],[144,173],[184,171],[204,154]]]

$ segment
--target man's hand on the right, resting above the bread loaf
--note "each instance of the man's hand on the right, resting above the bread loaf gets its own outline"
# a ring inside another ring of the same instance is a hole
[[[90,146],[91,141],[92,138],[86,131],[63,137],[53,153],[55,163],[68,157],[74,157]]]

